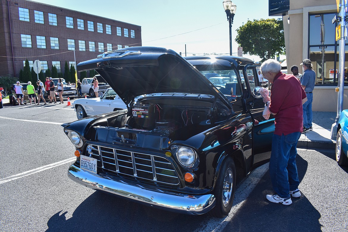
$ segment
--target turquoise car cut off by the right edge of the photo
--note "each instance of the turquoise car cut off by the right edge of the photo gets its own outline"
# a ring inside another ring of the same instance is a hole
[[[336,161],[341,166],[348,166],[348,110],[343,110],[337,121]]]

